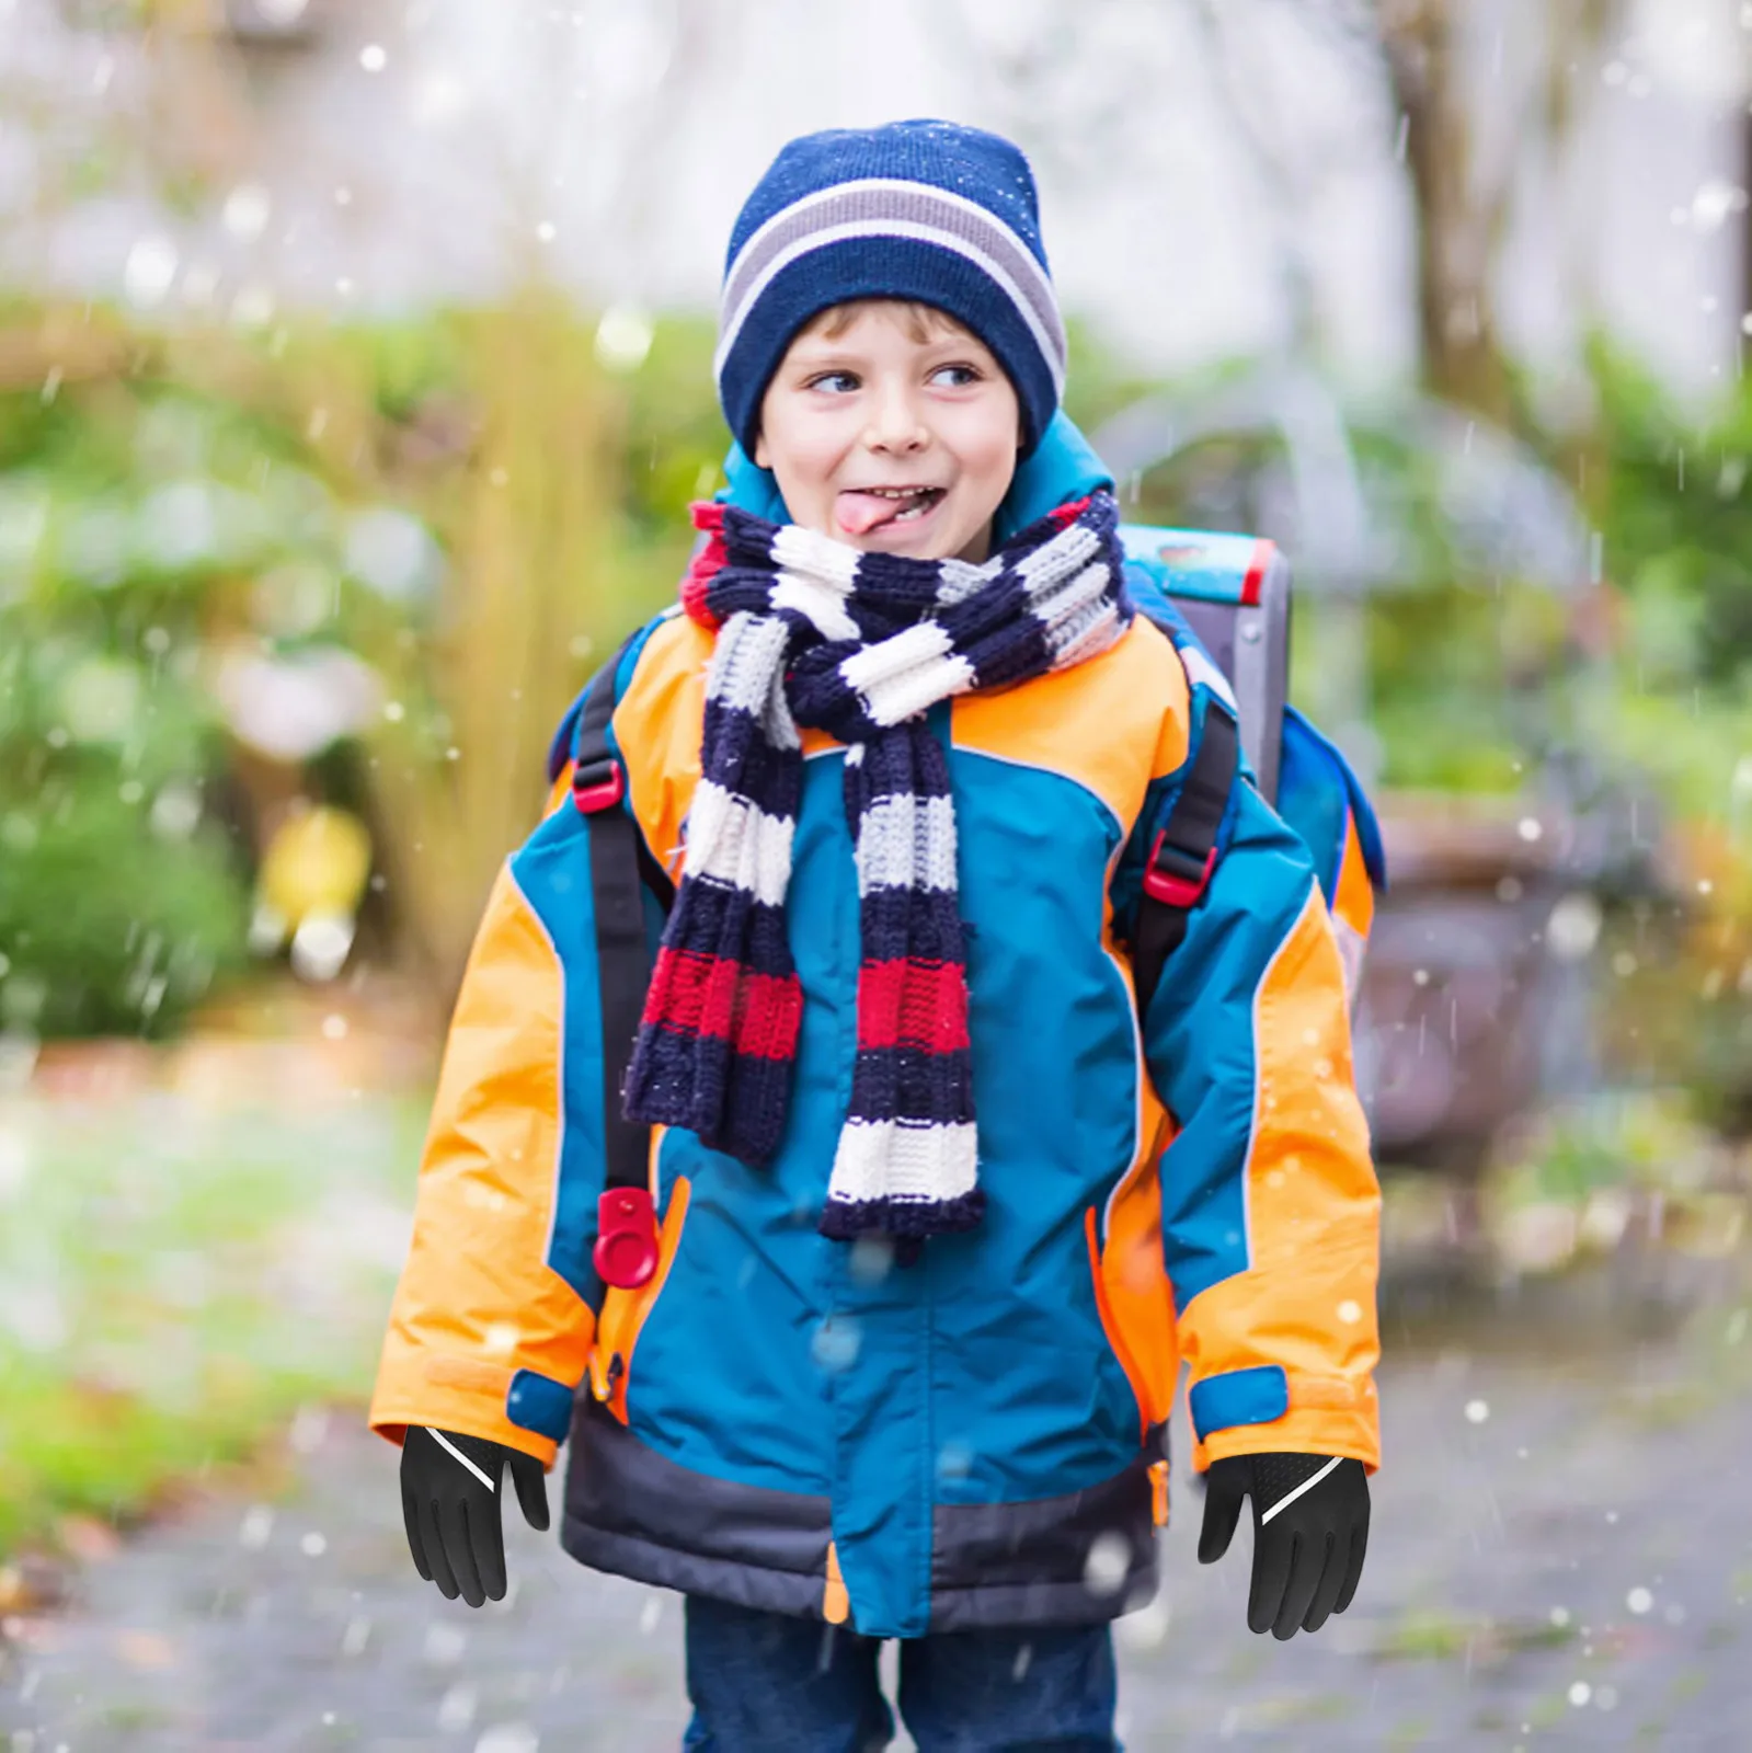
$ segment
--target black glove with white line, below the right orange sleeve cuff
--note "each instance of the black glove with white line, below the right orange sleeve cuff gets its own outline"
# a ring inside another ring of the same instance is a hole
[[[1331,1455],[1231,1455],[1205,1474],[1198,1562],[1229,1550],[1242,1497],[1254,1501],[1254,1586],[1247,1627],[1294,1637],[1343,1613],[1368,1551],[1368,1473]]]

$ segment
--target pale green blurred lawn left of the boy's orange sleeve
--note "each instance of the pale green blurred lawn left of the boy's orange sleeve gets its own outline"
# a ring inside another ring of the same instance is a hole
[[[0,1124],[0,1557],[363,1397],[424,1103]]]

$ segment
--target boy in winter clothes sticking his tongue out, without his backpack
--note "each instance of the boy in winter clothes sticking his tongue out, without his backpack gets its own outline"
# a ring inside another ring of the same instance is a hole
[[[679,855],[624,1089],[602,799],[510,859],[458,1001],[370,1415],[414,1560],[498,1599],[503,1469],[545,1527],[570,1434],[566,1550],[687,1595],[694,1748],[886,1744],[886,1637],[922,1749],[1117,1746],[1182,1357],[1201,1558],[1254,1502],[1249,1625],[1314,1630],[1361,1571],[1378,1192],[1340,957],[1240,782],[1140,1031],[1201,720],[1063,366],[1008,142],[779,154],[726,266],[728,505],[591,691],[647,871]],[[626,1118],[661,1224],[605,1287]]]

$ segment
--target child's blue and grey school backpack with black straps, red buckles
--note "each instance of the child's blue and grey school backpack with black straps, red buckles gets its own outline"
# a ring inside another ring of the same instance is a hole
[[[1314,855],[1356,1001],[1375,898],[1387,873],[1375,812],[1350,763],[1289,705],[1289,563],[1263,538],[1122,524],[1126,586],[1173,642],[1201,726],[1193,763],[1150,847],[1133,941],[1133,985],[1147,1010],[1186,936],[1222,850],[1236,780],[1252,784]],[[623,1118],[621,1083],[651,980],[649,892],[666,912],[673,884],[626,803],[626,768],[609,736],[635,633],[572,703],[547,752],[554,784],[572,763],[572,801],[591,817],[589,861],[602,990],[605,1192],[596,1273],[637,1288],[656,1269],[649,1127]]]

